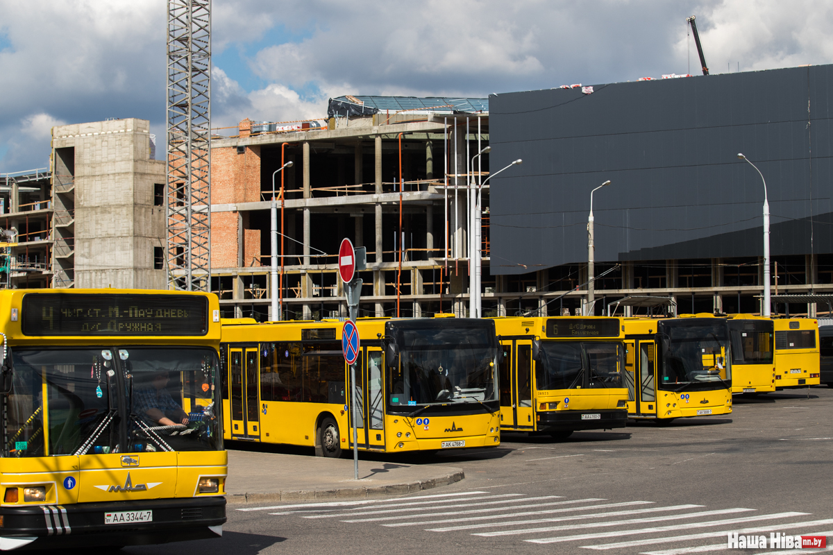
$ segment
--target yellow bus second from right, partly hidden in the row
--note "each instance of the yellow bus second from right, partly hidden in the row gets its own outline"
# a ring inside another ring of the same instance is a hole
[[[760,394],[776,390],[775,326],[770,318],[730,315],[731,392]]]

